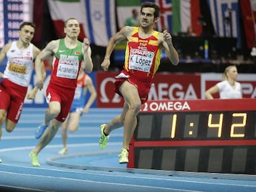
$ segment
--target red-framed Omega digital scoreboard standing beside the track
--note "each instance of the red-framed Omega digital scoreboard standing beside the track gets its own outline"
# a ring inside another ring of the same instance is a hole
[[[148,101],[129,168],[256,173],[256,99]]]

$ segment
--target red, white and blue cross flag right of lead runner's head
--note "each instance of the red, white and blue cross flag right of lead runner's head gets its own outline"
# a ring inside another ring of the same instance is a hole
[[[171,22],[172,22],[172,7],[171,7],[171,0],[142,0],[142,2],[150,1],[155,2],[160,7],[160,17],[157,25],[158,31],[168,30],[173,31]]]

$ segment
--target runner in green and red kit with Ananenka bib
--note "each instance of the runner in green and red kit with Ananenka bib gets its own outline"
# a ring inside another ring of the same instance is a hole
[[[41,79],[41,65],[46,57],[54,55],[51,80],[46,89],[48,109],[44,122],[36,130],[35,138],[41,138],[30,152],[32,166],[39,167],[38,153],[53,140],[61,124],[66,120],[74,98],[77,77],[81,63],[85,70],[93,70],[92,50],[87,38],[83,43],[77,38],[80,33],[79,21],[75,18],[67,19],[64,23],[65,38],[49,42],[40,52],[35,61],[36,86],[43,88]]]

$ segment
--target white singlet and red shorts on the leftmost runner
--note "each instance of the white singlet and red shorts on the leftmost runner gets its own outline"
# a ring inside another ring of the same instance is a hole
[[[12,42],[6,53],[7,65],[0,84],[0,109],[7,111],[7,119],[17,123],[22,113],[23,102],[33,72],[33,44],[20,50]]]

